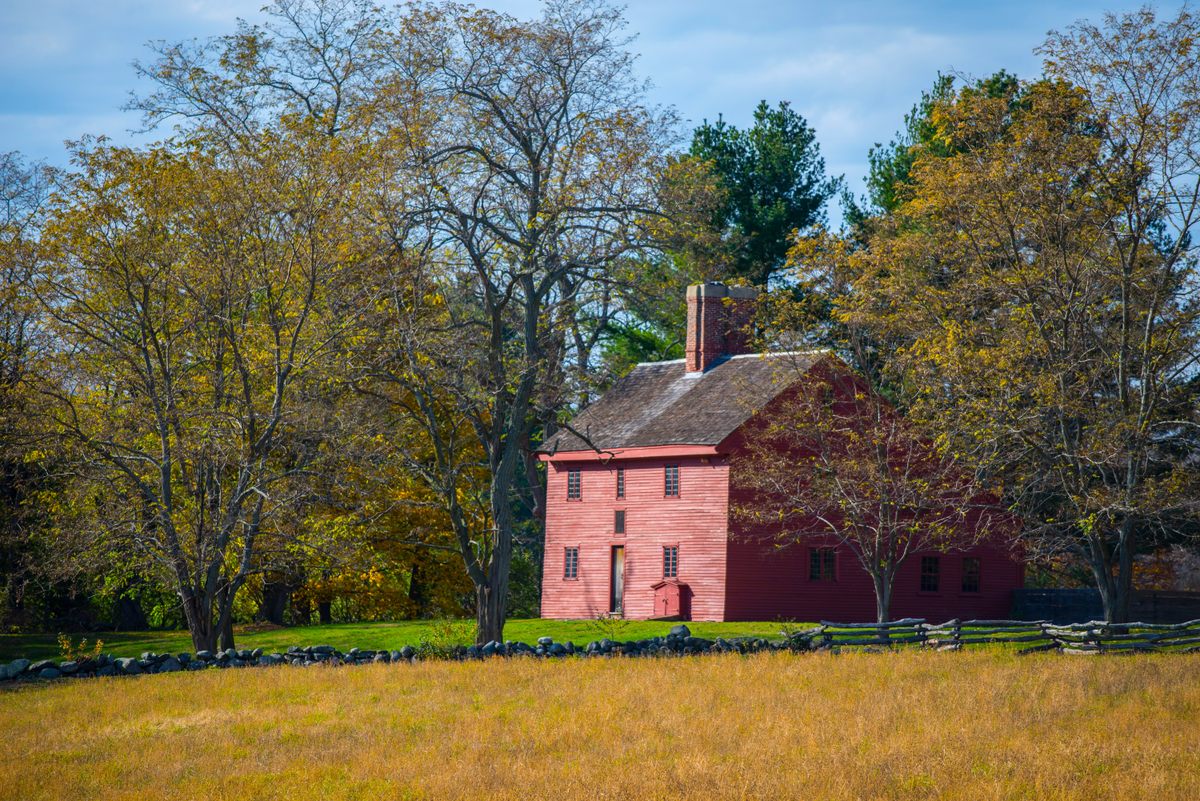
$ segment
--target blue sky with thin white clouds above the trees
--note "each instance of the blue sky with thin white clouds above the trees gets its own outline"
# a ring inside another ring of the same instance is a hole
[[[265,0],[0,0],[0,152],[64,164],[64,139],[132,141],[131,62],[151,40],[229,32]],[[482,0],[534,16],[536,0]],[[791,101],[816,130],[832,174],[860,192],[866,151],[900,126],[938,71],[1036,74],[1050,29],[1127,0],[908,2],[900,0],[631,0],[630,30],[653,100],[698,124],[744,124],[760,100]],[[1174,12],[1176,5],[1160,11]]]

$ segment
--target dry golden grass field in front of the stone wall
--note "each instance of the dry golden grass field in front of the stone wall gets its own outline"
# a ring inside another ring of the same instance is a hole
[[[0,797],[1200,799],[1200,656],[212,670],[0,692]]]

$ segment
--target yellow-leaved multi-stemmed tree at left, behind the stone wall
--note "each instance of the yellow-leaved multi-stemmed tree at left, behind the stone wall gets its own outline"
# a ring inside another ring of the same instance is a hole
[[[79,549],[144,558],[193,644],[232,646],[238,590],[323,452],[353,177],[296,121],[232,161],[194,143],[84,146],[47,227],[54,424],[100,482]],[[253,153],[254,158],[247,157]]]

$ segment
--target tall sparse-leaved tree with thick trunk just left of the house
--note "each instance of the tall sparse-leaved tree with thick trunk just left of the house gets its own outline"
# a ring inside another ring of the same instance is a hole
[[[595,344],[574,324],[614,302],[659,213],[673,120],[646,106],[624,24],[580,0],[533,22],[418,6],[386,50],[390,319],[368,368],[424,432],[409,462],[444,499],[480,643],[503,636],[538,422]]]

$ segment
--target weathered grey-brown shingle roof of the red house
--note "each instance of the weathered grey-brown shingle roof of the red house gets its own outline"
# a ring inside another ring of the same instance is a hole
[[[600,450],[716,445],[794,384],[823,351],[733,356],[703,373],[684,360],[638,365],[571,421]],[[542,452],[589,451],[566,429]]]

